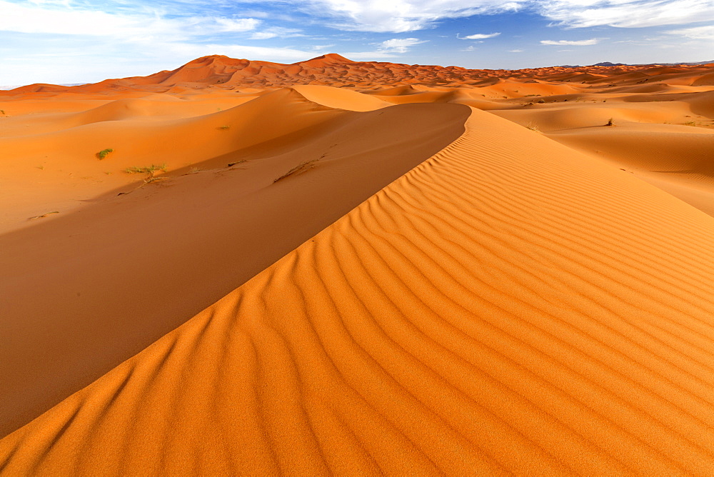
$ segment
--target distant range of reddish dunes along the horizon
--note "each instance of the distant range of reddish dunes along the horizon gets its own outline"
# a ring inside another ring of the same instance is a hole
[[[318,56],[293,64],[233,59],[222,55],[203,56],[174,71],[160,71],[149,76],[108,79],[96,84],[56,86],[35,84],[0,91],[0,98],[32,93],[50,97],[58,93],[128,94],[136,91],[191,94],[207,88],[216,91],[313,84],[353,89],[378,89],[389,95],[419,91],[421,87],[463,87],[498,89],[517,84],[528,91],[545,84],[567,94],[579,85],[585,87],[633,86],[661,82],[669,85],[711,86],[714,64],[573,66],[521,70],[465,69],[460,66],[396,64],[376,61],[352,61],[338,54]],[[406,90],[400,91],[400,89]],[[396,88],[396,89],[395,89]],[[500,96],[499,96],[500,97]]]

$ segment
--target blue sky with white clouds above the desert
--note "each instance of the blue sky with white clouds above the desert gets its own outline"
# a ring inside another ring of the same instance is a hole
[[[714,60],[714,0],[0,0],[0,85],[325,53],[487,69]]]

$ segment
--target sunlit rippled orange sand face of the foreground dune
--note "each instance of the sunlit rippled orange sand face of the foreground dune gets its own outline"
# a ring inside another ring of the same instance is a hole
[[[446,149],[4,438],[0,465],[708,474],[712,236],[664,191],[474,110]]]

